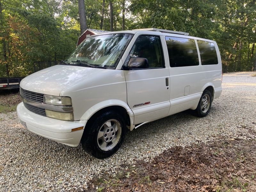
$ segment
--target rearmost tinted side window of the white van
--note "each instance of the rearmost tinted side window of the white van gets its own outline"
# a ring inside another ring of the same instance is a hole
[[[197,40],[202,65],[218,64],[218,57],[214,43]]]

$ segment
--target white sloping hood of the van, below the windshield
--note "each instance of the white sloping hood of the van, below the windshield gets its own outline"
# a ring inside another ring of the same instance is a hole
[[[71,65],[55,65],[33,73],[20,82],[22,89],[59,96],[61,90],[83,78],[96,76],[104,69]]]

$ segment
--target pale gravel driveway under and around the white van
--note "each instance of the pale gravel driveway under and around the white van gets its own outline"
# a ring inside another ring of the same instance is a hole
[[[207,117],[185,111],[142,125],[127,133],[115,155],[102,160],[87,155],[81,145],[72,148],[29,132],[15,112],[0,114],[0,191],[84,191],[93,178],[115,176],[121,165],[150,162],[173,146],[211,142],[220,135],[256,139],[253,74],[223,75],[222,95]]]

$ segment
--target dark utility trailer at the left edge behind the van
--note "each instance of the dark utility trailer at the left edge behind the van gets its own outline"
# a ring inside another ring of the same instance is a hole
[[[24,77],[0,77],[0,90],[19,89]]]

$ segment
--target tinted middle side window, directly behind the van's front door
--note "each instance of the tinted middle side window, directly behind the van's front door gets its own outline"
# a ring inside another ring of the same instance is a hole
[[[171,67],[199,65],[194,39],[165,37]]]

